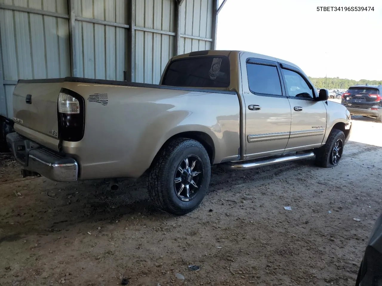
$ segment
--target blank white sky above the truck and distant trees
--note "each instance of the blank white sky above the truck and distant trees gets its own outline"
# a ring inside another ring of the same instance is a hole
[[[317,11],[361,3],[374,11]],[[382,79],[382,0],[228,0],[218,21],[219,50],[274,56],[311,77]]]

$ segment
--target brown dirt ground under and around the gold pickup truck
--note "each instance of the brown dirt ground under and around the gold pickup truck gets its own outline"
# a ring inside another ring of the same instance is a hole
[[[354,117],[333,169],[214,167],[209,194],[182,217],[151,206],[145,178],[114,192],[101,180],[22,179],[2,154],[0,285],[354,285],[382,210],[381,132]]]

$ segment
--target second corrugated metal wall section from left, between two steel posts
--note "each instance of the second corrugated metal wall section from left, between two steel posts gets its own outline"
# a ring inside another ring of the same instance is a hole
[[[78,77],[123,80],[123,71],[128,66],[128,5],[126,0],[75,2]],[[86,18],[86,21],[81,18]],[[96,24],[88,22],[88,19],[110,23]],[[112,26],[112,23],[125,24],[126,27]]]

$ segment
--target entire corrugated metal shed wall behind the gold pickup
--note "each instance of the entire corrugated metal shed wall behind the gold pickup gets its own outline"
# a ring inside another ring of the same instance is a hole
[[[76,76],[158,84],[176,53],[213,47],[217,0],[181,2],[0,0],[0,115],[13,117],[18,79]]]

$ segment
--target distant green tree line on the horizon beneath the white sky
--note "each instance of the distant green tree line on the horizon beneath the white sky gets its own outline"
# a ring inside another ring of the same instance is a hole
[[[356,84],[369,84],[369,85],[380,85],[382,80],[366,80],[361,79],[359,81],[352,79],[340,79],[339,77],[309,77],[312,84],[316,88],[327,88],[327,89],[347,89],[352,85]]]

